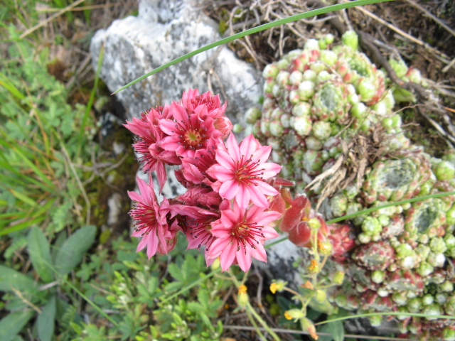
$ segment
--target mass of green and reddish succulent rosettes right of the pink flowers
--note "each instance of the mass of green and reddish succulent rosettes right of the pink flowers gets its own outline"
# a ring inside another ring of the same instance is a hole
[[[301,193],[316,175],[336,163],[353,136],[378,128],[384,131],[380,141],[384,152],[367,165],[359,185],[350,184],[323,202],[327,220],[455,189],[455,154],[432,158],[410,143],[400,115],[392,108],[395,102],[413,101],[412,94],[392,86],[357,47],[358,37],[352,31],[343,35],[339,45],[333,45],[330,35],[308,40],[303,50],[291,51],[265,67],[262,109],[246,114],[252,133],[272,146],[273,161],[283,166],[282,175],[295,180]],[[390,64],[402,80],[425,85],[418,70],[402,61]],[[317,198],[323,184],[309,195]],[[332,257],[344,266],[346,276],[329,299],[358,312],[454,315],[454,202],[449,195],[392,205],[343,225],[350,230],[343,231],[344,236],[355,232],[355,247],[344,248],[352,249],[347,257],[346,253]],[[324,221],[309,208],[302,212],[309,219]],[[299,229],[309,235],[309,220],[295,226],[289,239]],[[379,325],[381,320],[375,317],[371,322]],[[403,335],[455,340],[454,320],[407,315],[397,320]]]

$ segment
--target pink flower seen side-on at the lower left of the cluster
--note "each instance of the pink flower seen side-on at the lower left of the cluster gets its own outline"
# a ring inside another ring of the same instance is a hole
[[[153,180],[149,177],[150,185],[137,178],[139,193],[128,191],[134,207],[129,215],[135,220],[132,237],[141,237],[137,251],[147,247],[149,259],[158,251],[167,254],[175,245],[176,231],[168,229],[166,215],[170,211],[170,205],[166,198],[161,202],[161,207],[156,202]]]

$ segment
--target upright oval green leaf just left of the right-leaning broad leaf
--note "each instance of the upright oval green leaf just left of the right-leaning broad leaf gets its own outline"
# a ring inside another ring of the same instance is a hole
[[[53,281],[52,259],[48,239],[38,227],[32,227],[28,232],[28,254],[31,264],[45,283]]]

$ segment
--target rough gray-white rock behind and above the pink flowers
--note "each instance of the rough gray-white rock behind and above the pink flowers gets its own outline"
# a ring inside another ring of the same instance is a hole
[[[221,37],[218,25],[191,0],[141,0],[139,15],[117,20],[97,31],[90,52],[96,69],[105,46],[100,77],[115,91],[146,72]],[[127,116],[181,98],[184,90],[211,90],[228,101],[228,117],[241,121],[261,94],[252,65],[238,60],[225,46],[200,53],[168,67],[117,94]]]

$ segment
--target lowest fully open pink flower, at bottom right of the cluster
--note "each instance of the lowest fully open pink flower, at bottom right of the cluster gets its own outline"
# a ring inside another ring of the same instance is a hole
[[[269,223],[277,220],[281,213],[264,212],[263,207],[256,205],[245,210],[237,202],[234,202],[233,208],[221,210],[220,219],[212,222],[212,235],[218,238],[210,245],[208,256],[210,259],[220,256],[223,271],[237,261],[240,269],[246,272],[250,269],[251,257],[267,261],[264,240],[278,236]]]

